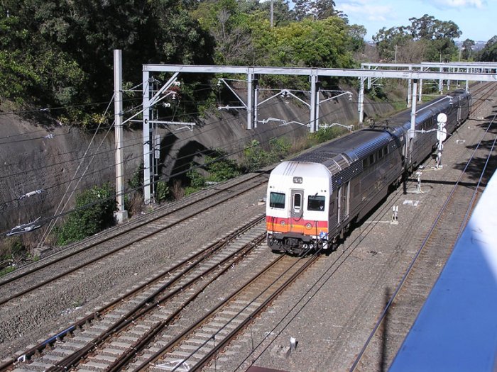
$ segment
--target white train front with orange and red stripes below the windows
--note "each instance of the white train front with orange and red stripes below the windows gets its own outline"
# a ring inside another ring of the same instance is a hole
[[[332,176],[322,164],[282,162],[269,176],[268,247],[301,254],[327,247]]]

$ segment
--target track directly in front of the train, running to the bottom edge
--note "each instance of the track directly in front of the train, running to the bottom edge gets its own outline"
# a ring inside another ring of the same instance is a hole
[[[266,310],[271,301],[315,260],[317,255],[305,259],[278,257],[155,354],[141,356],[131,366],[133,371],[148,371],[157,367],[199,371],[208,363],[215,362],[215,357],[224,346],[237,337],[253,318]],[[161,341],[158,340],[158,343]]]

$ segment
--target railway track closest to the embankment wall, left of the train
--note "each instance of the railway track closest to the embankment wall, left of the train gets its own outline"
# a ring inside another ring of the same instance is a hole
[[[47,259],[29,269],[13,273],[0,282],[0,306],[15,306],[17,303],[12,303],[12,301],[16,298],[26,296],[38,288],[48,286],[92,264],[102,264],[105,259],[109,261],[116,254],[131,254],[137,247],[148,244],[148,239],[160,239],[168,233],[169,229],[190,218],[196,218],[215,205],[251,191],[266,181],[266,174],[255,174],[248,179],[226,184],[223,188],[209,190],[201,196],[195,196],[187,203],[175,205],[173,210],[165,209],[150,218],[133,223],[116,234],[111,234],[75,251]]]

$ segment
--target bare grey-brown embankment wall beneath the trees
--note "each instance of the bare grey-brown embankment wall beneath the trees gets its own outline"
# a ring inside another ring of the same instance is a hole
[[[347,96],[327,101],[320,106],[320,124],[357,125],[358,108],[355,91],[351,101]],[[324,98],[323,98],[324,99]],[[366,117],[386,115],[392,111],[388,103],[367,101]],[[259,109],[258,119],[279,118],[286,122],[309,122],[307,106],[296,100],[275,98]],[[114,184],[114,133],[101,130],[87,133],[78,128],[58,125],[54,120],[43,124],[19,115],[0,112],[0,232],[35,218],[49,218],[74,206],[78,191]],[[216,111],[198,120],[189,130],[178,125],[158,128],[161,138],[158,170],[167,178],[174,169],[201,163],[202,151],[221,149],[240,160],[241,151],[252,140],[265,144],[273,137],[284,136],[290,144],[302,142],[308,128],[290,123],[268,121],[246,130],[246,111]],[[141,127],[124,130],[125,183],[143,162],[143,133]],[[33,193],[33,191],[36,191]],[[40,229],[43,230],[43,229]],[[27,245],[38,241],[40,231],[19,235]]]

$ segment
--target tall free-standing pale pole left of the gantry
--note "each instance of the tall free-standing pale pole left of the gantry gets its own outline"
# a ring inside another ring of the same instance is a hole
[[[114,133],[116,147],[116,203],[117,222],[128,219],[124,210],[124,164],[123,164],[123,64],[122,50],[114,50]]]

